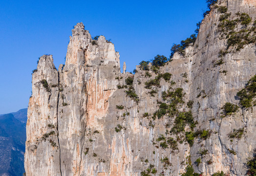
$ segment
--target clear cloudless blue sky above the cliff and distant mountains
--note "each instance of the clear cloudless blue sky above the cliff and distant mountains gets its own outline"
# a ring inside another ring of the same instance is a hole
[[[111,39],[121,66],[133,71],[141,60],[169,57],[206,9],[205,0],[0,0],[0,114],[27,107],[38,57],[64,64],[77,22]]]

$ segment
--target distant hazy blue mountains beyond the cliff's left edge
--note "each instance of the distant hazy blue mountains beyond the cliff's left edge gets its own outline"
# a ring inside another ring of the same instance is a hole
[[[27,109],[0,115],[0,176],[22,176]]]

